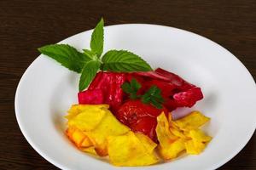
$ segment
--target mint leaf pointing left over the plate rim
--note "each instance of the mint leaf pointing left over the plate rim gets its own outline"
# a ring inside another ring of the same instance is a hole
[[[90,57],[86,54],[80,53],[76,48],[67,44],[52,44],[38,48],[41,54],[48,55],[55,59],[61,65],[67,67],[71,71],[80,73],[84,64],[90,61]]]

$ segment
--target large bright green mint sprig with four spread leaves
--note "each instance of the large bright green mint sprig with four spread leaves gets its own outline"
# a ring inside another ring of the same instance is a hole
[[[116,72],[152,71],[145,60],[129,51],[113,49],[102,56],[103,28],[104,20],[102,19],[91,34],[90,49],[83,49],[84,53],[67,44],[46,45],[38,48],[38,51],[55,59],[67,69],[81,73],[79,91],[83,91],[89,86],[99,70]]]

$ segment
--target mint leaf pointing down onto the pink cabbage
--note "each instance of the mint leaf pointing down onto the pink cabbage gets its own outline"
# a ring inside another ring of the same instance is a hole
[[[83,91],[88,87],[90,82],[96,76],[97,71],[99,71],[101,62],[98,60],[90,60],[84,65],[80,80],[79,80],[79,91]]]

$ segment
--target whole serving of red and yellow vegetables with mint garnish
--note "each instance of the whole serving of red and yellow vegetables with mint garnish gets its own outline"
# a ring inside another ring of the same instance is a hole
[[[200,111],[172,116],[203,99],[201,88],[126,50],[103,53],[103,20],[80,52],[67,44],[38,50],[81,74],[78,104],[67,111],[66,134],[79,149],[115,166],[148,166],[183,153],[200,154],[212,137]]]

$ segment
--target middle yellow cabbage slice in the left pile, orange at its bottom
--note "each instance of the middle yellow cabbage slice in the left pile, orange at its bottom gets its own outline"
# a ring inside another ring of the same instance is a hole
[[[97,154],[107,156],[107,137],[127,133],[130,128],[119,122],[108,109],[102,108],[102,111],[105,112],[102,122],[95,129],[85,132],[85,134],[95,146]]]

